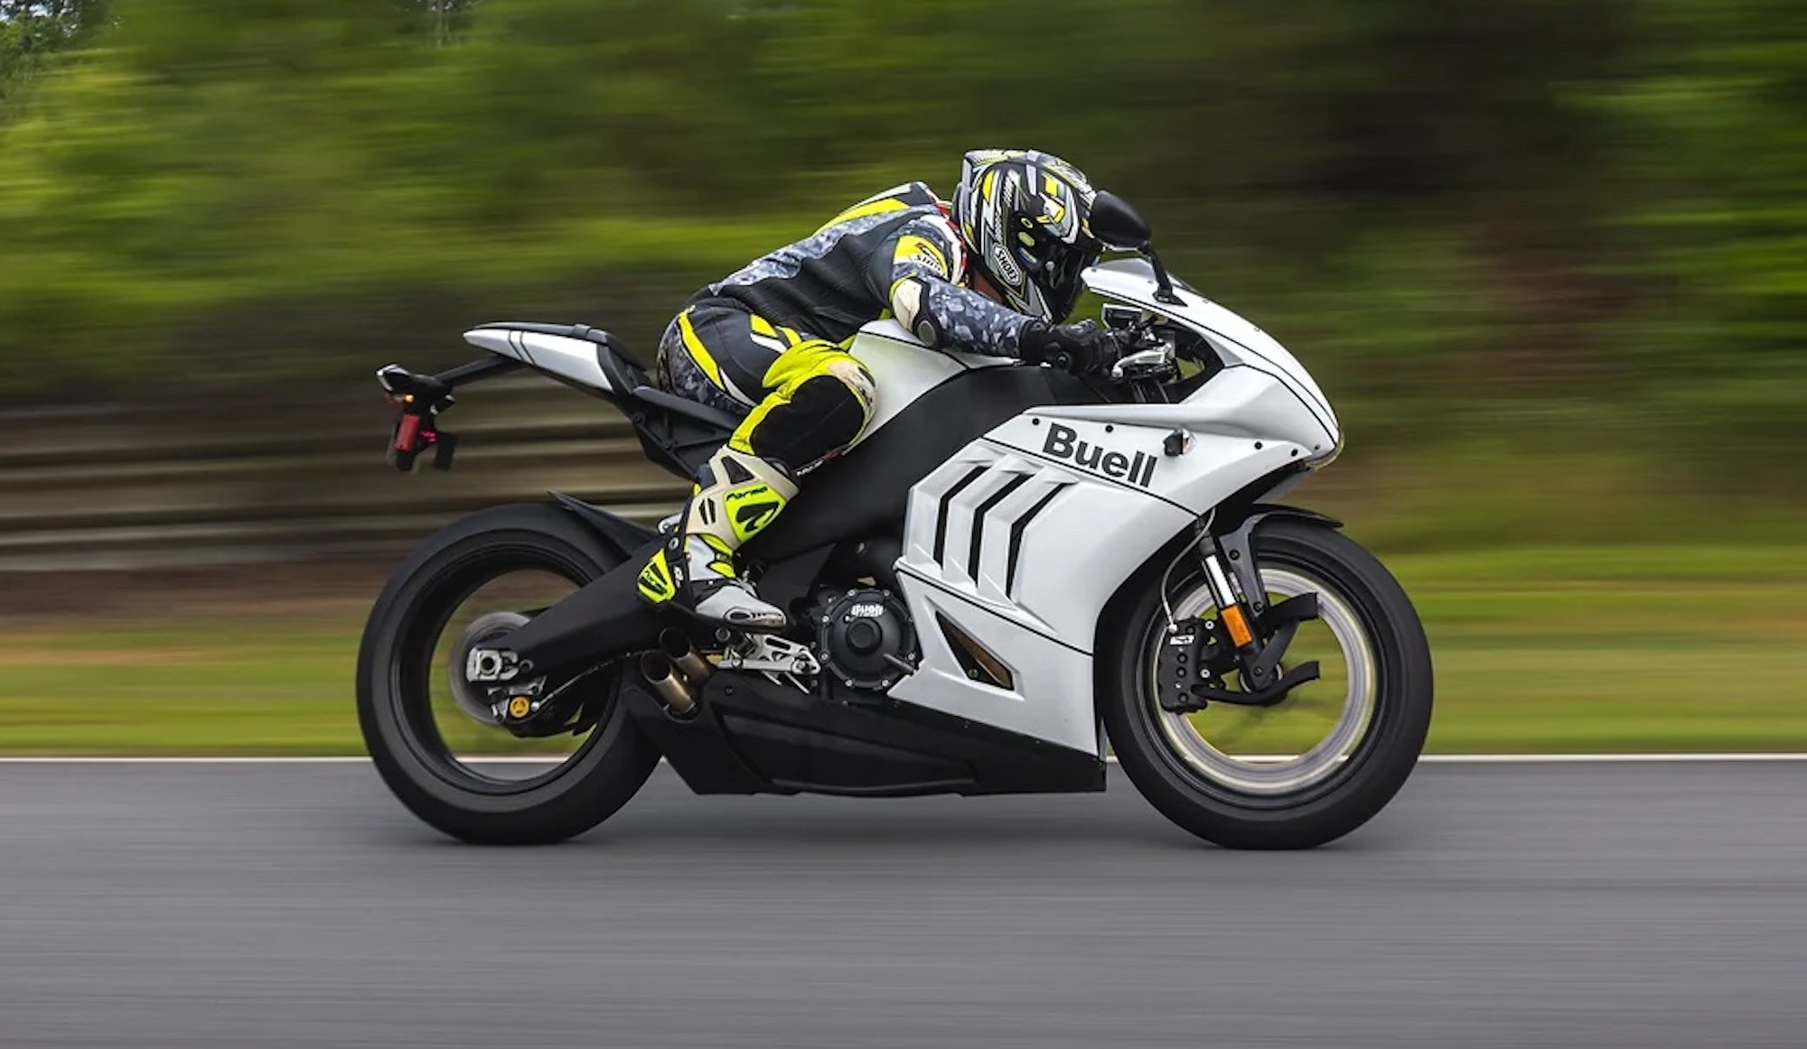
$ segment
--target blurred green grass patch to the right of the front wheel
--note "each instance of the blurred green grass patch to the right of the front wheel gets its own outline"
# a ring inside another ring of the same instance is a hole
[[[1531,549],[1395,571],[1437,659],[1433,749],[1807,749],[1800,549]]]

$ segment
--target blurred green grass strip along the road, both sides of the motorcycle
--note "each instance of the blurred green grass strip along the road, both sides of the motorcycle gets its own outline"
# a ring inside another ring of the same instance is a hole
[[[1543,547],[1388,563],[1431,634],[1431,749],[1807,749],[1807,547]],[[0,657],[11,755],[361,753],[361,610],[42,627]]]

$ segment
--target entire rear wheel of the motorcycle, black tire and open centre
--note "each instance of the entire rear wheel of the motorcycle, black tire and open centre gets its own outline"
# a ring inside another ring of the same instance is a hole
[[[613,670],[569,682],[569,717],[533,738],[486,719],[486,697],[459,672],[468,648],[504,645],[616,567],[569,513],[501,506],[446,525],[396,571],[358,650],[358,724],[408,811],[463,841],[538,845],[589,831],[640,791],[658,753],[618,702]]]

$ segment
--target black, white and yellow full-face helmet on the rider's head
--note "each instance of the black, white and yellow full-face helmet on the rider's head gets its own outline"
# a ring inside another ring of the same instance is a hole
[[[1097,191],[1079,168],[1035,150],[967,153],[954,224],[969,260],[1014,309],[1061,323],[1079,302],[1081,273],[1099,260]]]

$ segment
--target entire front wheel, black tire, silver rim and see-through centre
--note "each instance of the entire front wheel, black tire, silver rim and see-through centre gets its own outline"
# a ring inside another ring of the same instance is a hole
[[[1312,849],[1372,820],[1406,784],[1431,724],[1429,645],[1411,599],[1381,562],[1328,525],[1269,520],[1252,551],[1265,599],[1317,594],[1283,668],[1323,677],[1274,708],[1160,706],[1156,673],[1176,621],[1216,614],[1203,572],[1169,580],[1128,614],[1102,715],[1137,789],[1169,820],[1227,849]]]

